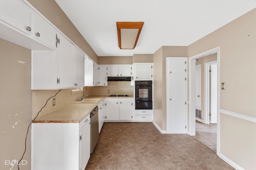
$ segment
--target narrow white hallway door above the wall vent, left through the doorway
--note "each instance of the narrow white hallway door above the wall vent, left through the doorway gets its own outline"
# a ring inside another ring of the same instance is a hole
[[[202,65],[196,65],[196,108],[202,109],[202,99],[201,99],[201,69]]]

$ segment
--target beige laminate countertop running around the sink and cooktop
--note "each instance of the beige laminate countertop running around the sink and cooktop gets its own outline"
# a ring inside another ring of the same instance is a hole
[[[88,99],[101,99],[97,104],[70,104],[66,107],[36,118],[33,123],[80,123],[104,98],[133,98],[88,96]],[[85,98],[86,99],[86,98]]]

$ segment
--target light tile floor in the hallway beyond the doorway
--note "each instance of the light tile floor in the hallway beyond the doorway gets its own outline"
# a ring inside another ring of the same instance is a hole
[[[217,124],[204,124],[196,121],[196,136],[193,136],[216,153]]]

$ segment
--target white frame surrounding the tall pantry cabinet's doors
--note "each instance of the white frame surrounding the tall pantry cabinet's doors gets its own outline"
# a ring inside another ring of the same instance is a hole
[[[168,65],[168,59],[185,59],[186,61],[186,70],[188,70],[188,58],[187,57],[166,57],[166,133],[167,134],[178,134],[178,133],[181,133],[181,132],[175,132],[175,131],[169,131],[169,105],[168,105],[168,101],[169,101],[169,89],[168,89],[168,68],[169,68],[169,65]],[[186,71],[185,73],[185,76],[186,76],[186,81],[188,81],[188,72]],[[186,82],[185,84],[185,88],[186,88],[186,97],[185,97],[185,101],[186,102],[186,132],[184,132],[185,134],[188,133],[188,83]],[[196,115],[195,115],[196,117]],[[183,133],[183,132],[182,132]],[[184,134],[183,133],[183,134]]]

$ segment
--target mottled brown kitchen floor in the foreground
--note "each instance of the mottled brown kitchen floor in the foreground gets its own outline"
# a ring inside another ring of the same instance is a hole
[[[104,123],[86,170],[233,170],[187,134],[161,134],[153,123]]]

